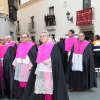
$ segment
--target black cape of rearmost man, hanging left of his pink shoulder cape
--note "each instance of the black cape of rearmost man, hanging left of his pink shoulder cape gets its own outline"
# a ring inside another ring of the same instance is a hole
[[[61,60],[63,64],[63,70],[65,73],[66,68],[67,68],[67,62],[68,62],[68,51],[65,51],[65,39],[58,42],[57,45],[59,47],[59,51],[61,54]]]

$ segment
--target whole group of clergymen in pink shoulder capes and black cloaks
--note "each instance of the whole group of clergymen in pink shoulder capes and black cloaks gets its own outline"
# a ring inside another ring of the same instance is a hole
[[[0,98],[10,100],[69,100],[67,90],[97,87],[100,69],[100,38],[85,40],[85,34],[53,41],[47,31],[33,43],[27,33],[21,42],[0,36]]]

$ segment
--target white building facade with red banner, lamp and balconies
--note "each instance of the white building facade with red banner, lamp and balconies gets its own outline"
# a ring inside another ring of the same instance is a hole
[[[40,33],[47,30],[59,40],[67,37],[69,29],[74,29],[76,36],[84,32],[87,39],[93,38],[94,34],[100,34],[99,3],[100,0],[21,0],[17,39],[20,40],[21,33],[29,33],[33,40],[38,41]],[[53,25],[46,25],[44,16],[47,14],[54,14]]]

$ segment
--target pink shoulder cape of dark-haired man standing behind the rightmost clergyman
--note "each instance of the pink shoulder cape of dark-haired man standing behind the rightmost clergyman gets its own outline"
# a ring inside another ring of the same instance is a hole
[[[65,51],[71,51],[73,44],[77,41],[77,38],[66,38],[65,39]]]

